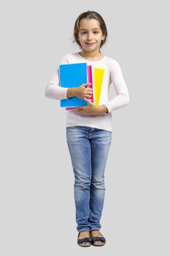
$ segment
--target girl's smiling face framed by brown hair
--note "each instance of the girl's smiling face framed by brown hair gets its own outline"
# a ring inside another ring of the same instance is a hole
[[[80,20],[78,40],[82,50],[92,52],[100,49],[101,40],[104,40],[100,23],[96,19],[83,18]]]

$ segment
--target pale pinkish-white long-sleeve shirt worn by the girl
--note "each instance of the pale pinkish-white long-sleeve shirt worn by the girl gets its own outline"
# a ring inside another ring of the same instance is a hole
[[[66,127],[85,126],[98,129],[105,129],[112,132],[112,111],[122,108],[129,104],[128,89],[123,78],[120,64],[107,56],[99,61],[84,59],[80,53],[69,53],[63,57],[60,64],[72,64],[86,62],[92,67],[105,69],[104,80],[101,87],[99,105],[106,105],[109,113],[100,116],[82,116],[74,110],[66,110]],[[109,87],[113,83],[116,97],[109,100]],[[67,99],[66,91],[68,88],[60,86],[58,68],[45,89],[45,96],[51,99]]]

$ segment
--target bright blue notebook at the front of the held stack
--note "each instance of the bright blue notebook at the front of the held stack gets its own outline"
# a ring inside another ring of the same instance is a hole
[[[73,88],[88,83],[87,63],[60,64],[59,65],[60,86]],[[79,107],[88,105],[84,99],[72,97],[61,99],[61,107]]]

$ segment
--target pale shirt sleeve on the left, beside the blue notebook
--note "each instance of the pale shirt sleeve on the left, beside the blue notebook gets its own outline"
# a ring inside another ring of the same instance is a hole
[[[66,56],[63,57],[60,64],[68,64]],[[50,99],[67,99],[66,92],[68,88],[60,86],[59,69],[55,69],[45,88],[45,97]]]

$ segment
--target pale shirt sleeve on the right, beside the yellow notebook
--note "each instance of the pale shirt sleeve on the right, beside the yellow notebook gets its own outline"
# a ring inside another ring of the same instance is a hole
[[[130,99],[128,94],[128,88],[123,78],[120,64],[115,59],[110,59],[109,69],[110,78],[115,86],[115,91],[117,94],[115,98],[109,100],[109,102],[104,104],[106,105],[108,112],[110,113],[112,110],[116,110],[118,108],[124,107],[125,105],[128,105]]]

